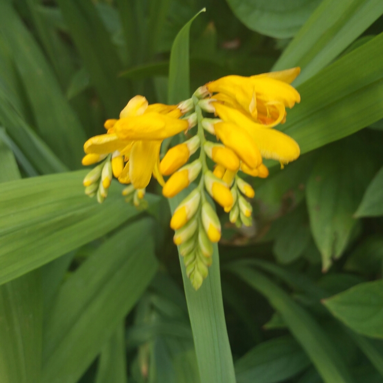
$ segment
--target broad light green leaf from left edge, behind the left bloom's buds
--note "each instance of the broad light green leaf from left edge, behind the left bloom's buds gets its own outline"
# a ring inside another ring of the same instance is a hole
[[[86,172],[4,183],[0,190],[0,284],[42,266],[138,214],[113,185],[99,205],[84,194]]]

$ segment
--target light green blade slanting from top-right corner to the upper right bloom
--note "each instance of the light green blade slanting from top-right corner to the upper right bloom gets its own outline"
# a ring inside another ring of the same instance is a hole
[[[273,70],[299,66],[302,72],[294,85],[304,83],[330,64],[382,13],[380,0],[323,1],[279,57]]]

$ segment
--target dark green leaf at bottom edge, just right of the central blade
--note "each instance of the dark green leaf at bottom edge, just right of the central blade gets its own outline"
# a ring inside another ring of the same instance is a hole
[[[237,383],[275,383],[293,377],[310,360],[291,336],[267,340],[235,362]]]

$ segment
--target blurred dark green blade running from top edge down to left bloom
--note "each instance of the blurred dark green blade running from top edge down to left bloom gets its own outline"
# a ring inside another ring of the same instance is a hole
[[[90,0],[58,0],[57,4],[108,116],[118,117],[130,98],[129,85],[118,78],[122,63],[97,9]]]

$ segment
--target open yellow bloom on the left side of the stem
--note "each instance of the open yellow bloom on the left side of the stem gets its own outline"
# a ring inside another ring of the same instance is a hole
[[[113,153],[113,175],[121,183],[144,189],[153,174],[164,185],[159,171],[159,149],[164,138],[189,128],[187,120],[179,119],[181,115],[176,105],[148,105],[145,97],[135,96],[121,111],[119,119],[106,121],[107,134],[88,139],[83,163],[95,163],[97,155],[105,158]],[[127,162],[125,167],[123,158]]]

